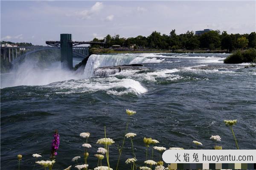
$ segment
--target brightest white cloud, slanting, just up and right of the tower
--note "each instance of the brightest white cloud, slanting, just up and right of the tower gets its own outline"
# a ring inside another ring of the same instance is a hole
[[[93,14],[98,13],[103,8],[103,4],[100,2],[96,2],[89,10],[84,10],[80,12],[76,12],[76,16],[81,17],[82,20],[90,19]]]

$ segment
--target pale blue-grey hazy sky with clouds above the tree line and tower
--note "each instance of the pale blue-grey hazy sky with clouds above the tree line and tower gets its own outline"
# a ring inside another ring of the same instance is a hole
[[[213,29],[231,34],[256,31],[256,1],[0,1],[1,41],[46,45],[72,34],[88,41],[119,34],[169,35]]]

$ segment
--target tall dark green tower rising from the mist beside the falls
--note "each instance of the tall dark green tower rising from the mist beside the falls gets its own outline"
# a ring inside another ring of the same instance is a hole
[[[71,34],[61,34],[61,68],[73,69]]]

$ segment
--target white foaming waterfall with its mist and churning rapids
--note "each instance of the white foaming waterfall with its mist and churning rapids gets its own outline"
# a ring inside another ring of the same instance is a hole
[[[232,74],[234,71],[230,69],[195,68],[195,66],[221,64],[225,56],[225,54],[93,54],[83,71],[61,70],[60,62],[50,63],[48,68],[39,69],[37,61],[28,58],[9,74],[1,75],[1,88],[37,85],[38,88],[52,88],[53,93],[56,94],[106,91],[107,94],[114,95],[138,95],[148,92],[144,83],[204,79],[186,76],[184,75],[186,72]],[[119,72],[102,68],[94,73],[99,67],[140,63],[144,65],[143,70],[128,69]],[[190,66],[191,64],[195,66]]]

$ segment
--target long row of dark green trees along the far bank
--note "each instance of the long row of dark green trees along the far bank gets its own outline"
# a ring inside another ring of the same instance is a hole
[[[256,48],[256,33],[250,34],[227,34],[223,31],[208,31],[200,36],[195,35],[193,31],[187,31],[185,34],[177,35],[175,29],[169,35],[153,31],[148,37],[137,36],[129,38],[120,38],[120,36],[107,35],[103,40],[94,38],[93,41],[106,42],[106,47],[120,45],[122,47],[134,48],[157,48],[157,49],[222,49],[231,52],[237,49]],[[95,46],[94,46],[95,47]]]

